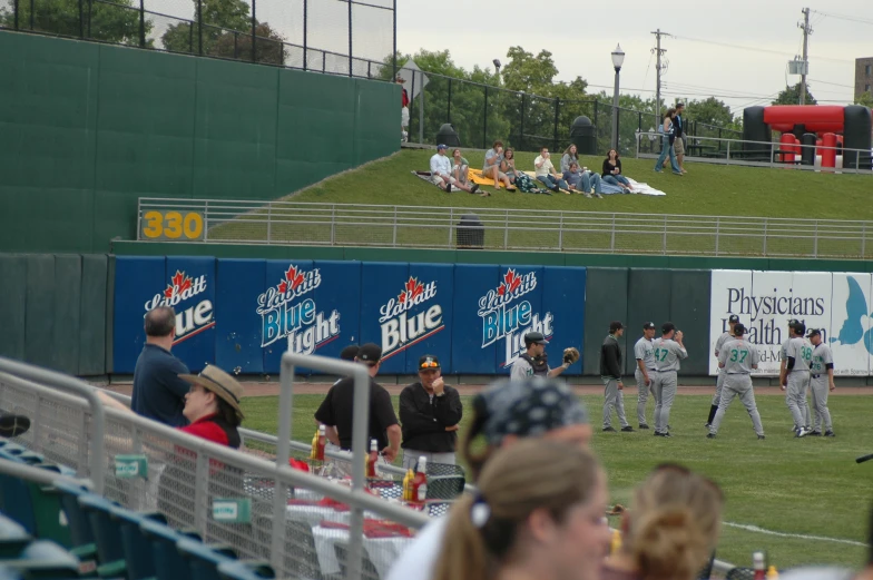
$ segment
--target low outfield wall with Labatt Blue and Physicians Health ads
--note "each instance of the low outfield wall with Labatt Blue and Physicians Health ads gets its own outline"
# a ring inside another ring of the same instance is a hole
[[[777,371],[787,320],[797,317],[823,331],[838,376],[873,384],[873,276],[863,272],[0,255],[0,355],[78,375],[131,373],[143,316],[169,303],[174,352],[194,371],[209,363],[275,375],[290,346],[336,356],[377,342],[386,376],[413,373],[424,353],[447,374],[501,375],[524,332],[539,330],[551,336],[552,361],[580,347],[567,374],[590,382],[610,321],[626,324],[629,353],[644,322],[669,320],[690,354],[680,374],[708,382],[715,341],[736,313],[762,353],[761,375]]]

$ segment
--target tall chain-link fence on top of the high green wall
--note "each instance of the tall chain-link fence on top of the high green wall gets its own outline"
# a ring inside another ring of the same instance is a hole
[[[0,28],[390,78],[396,62],[394,4],[395,0],[0,0]]]

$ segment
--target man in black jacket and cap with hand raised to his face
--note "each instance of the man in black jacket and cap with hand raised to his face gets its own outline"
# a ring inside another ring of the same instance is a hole
[[[419,358],[418,368],[420,381],[400,393],[403,468],[414,468],[422,455],[428,463],[454,464],[458,423],[463,415],[461,396],[443,383],[435,356]]]

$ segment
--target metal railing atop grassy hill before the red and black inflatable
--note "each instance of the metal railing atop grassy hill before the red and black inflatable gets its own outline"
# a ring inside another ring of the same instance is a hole
[[[807,171],[830,171],[873,175],[873,150],[825,147],[823,145],[792,145],[784,149],[779,141],[746,141],[717,137],[686,136],[685,156],[722,165],[758,167],[794,167]],[[660,154],[664,135],[646,131],[637,135],[636,156],[654,159]],[[823,151],[834,151],[837,167],[823,167]],[[697,155],[695,155],[697,154]]]

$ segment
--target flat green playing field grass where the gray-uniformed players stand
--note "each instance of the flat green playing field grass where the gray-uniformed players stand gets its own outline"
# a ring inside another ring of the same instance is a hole
[[[295,440],[312,439],[313,414],[322,399],[322,395],[294,397]],[[679,461],[722,485],[727,495],[724,517],[727,522],[787,534],[865,542],[873,500],[873,464],[857,465],[854,459],[873,453],[870,423],[873,400],[869,396],[831,397],[837,438],[802,440],[791,433],[792,421],[784,397],[759,396],[766,441],[757,441],[738,401],[729,409],[718,439],[708,440],[703,423],[710,397],[679,396],[670,416],[674,436],[665,440],[654,438],[651,431],[602,433],[599,430],[602,397],[582,399],[596,417],[594,449],[609,473],[611,501],[627,504],[634,485],[645,479],[648,470],[664,461]],[[244,400],[247,417],[244,426],[275,433],[277,406],[276,397]],[[636,396],[629,395],[626,409],[631,407],[636,409]],[[752,552],[759,549],[766,550],[771,563],[779,568],[807,563],[854,567],[864,561],[865,554],[865,549],[859,545],[725,527],[717,557],[737,566],[751,566]]]

